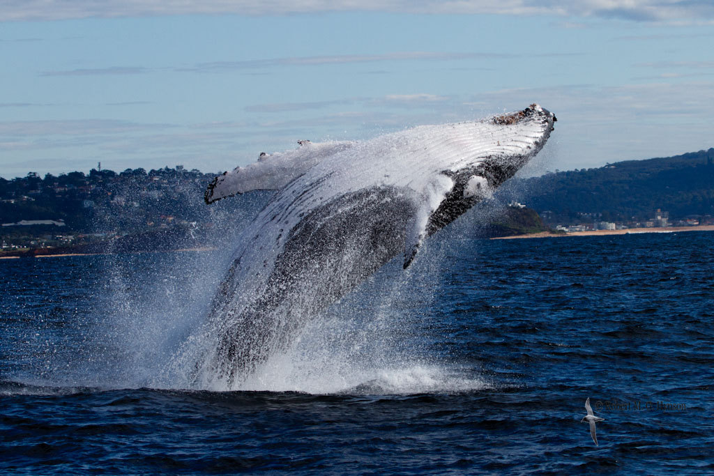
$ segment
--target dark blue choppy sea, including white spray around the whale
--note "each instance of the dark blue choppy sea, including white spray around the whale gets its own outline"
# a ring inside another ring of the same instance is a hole
[[[714,233],[435,238],[227,392],[228,252],[0,260],[0,470],[714,472]]]

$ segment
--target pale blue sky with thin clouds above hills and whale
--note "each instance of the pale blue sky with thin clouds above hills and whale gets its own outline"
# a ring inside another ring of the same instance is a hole
[[[217,173],[534,102],[532,173],[714,146],[710,0],[1,0],[0,63],[4,178]]]

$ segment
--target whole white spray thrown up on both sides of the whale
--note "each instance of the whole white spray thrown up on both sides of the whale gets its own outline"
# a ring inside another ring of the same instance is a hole
[[[398,260],[388,263],[308,323],[289,348],[232,384],[191,380],[195,360],[181,359],[190,356],[179,352],[205,320],[231,264],[228,250],[48,259],[44,263],[77,260],[76,266],[86,269],[87,295],[76,298],[87,306],[73,311],[59,334],[49,325],[33,330],[41,342],[54,335],[52,345],[36,348],[34,376],[21,379],[36,388],[7,390],[54,395],[148,387],[399,395],[491,388],[471,366],[453,363],[443,353],[444,336],[431,312],[446,285],[446,255],[458,255],[459,236],[470,235],[482,220],[470,215],[428,242],[410,270],[405,272]]]

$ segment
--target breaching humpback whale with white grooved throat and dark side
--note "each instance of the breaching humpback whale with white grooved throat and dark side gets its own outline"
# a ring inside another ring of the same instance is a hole
[[[532,104],[368,141],[299,141],[223,173],[206,203],[276,191],[238,240],[197,351],[196,384],[235,388],[314,316],[468,211],[535,156],[555,115]]]

